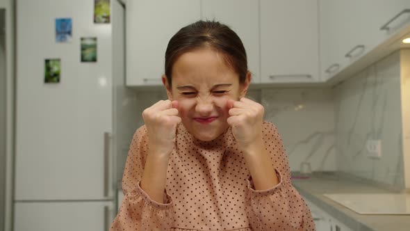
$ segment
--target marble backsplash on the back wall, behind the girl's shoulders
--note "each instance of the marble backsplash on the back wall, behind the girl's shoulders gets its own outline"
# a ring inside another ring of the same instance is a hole
[[[311,170],[336,170],[334,147],[334,97],[331,89],[283,89],[249,90],[247,97],[265,106],[265,120],[273,122],[290,161],[290,169],[299,171],[302,162]],[[143,125],[142,111],[161,99],[167,99],[165,90],[136,91],[136,127]],[[135,130],[135,129],[133,129]],[[130,133],[130,139],[132,134]],[[129,142],[131,140],[127,140]],[[119,166],[125,163],[128,149],[119,155]]]

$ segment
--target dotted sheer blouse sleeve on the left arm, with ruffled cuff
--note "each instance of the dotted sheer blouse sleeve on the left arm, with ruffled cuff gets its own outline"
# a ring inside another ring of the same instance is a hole
[[[170,230],[172,227],[172,198],[164,192],[165,204],[161,204],[151,200],[140,188],[147,157],[147,138],[145,126],[133,136],[122,177],[124,199],[110,231]]]

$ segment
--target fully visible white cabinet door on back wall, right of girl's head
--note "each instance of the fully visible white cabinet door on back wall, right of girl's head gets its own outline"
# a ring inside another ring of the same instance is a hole
[[[318,1],[261,0],[261,81],[318,81]]]

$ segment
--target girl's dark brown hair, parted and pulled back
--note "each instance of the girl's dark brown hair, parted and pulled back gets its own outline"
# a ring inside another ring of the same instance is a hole
[[[247,56],[239,36],[229,26],[215,21],[198,21],[180,29],[168,42],[165,51],[165,75],[171,86],[172,66],[182,54],[195,49],[210,48],[224,56],[227,65],[244,83],[247,74]]]

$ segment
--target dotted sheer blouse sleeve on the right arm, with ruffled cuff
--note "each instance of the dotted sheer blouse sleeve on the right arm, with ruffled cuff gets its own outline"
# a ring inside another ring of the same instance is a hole
[[[256,191],[252,177],[248,180],[246,212],[254,230],[315,230],[309,207],[290,182],[290,168],[277,128],[263,123],[265,146],[279,184]]]

